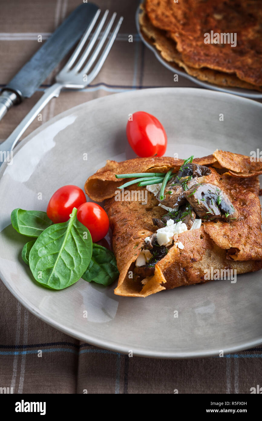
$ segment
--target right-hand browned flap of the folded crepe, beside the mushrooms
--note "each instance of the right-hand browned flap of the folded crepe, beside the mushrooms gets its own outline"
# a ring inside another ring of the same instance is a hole
[[[236,221],[203,222],[205,231],[233,260],[262,260],[261,209],[258,177],[218,174],[214,168],[206,182],[217,184],[238,211]]]

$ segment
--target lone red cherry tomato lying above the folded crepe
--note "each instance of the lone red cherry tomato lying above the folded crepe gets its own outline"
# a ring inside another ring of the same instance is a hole
[[[141,158],[161,157],[167,149],[167,133],[160,121],[144,111],[135,112],[127,122],[127,140]]]

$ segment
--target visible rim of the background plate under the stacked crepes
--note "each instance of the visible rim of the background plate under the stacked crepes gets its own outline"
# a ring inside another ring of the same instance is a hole
[[[142,3],[144,3],[144,1],[142,1]],[[201,80],[198,80],[196,77],[188,75],[188,73],[182,67],[176,66],[175,63],[169,63],[167,60],[163,59],[159,51],[152,44],[148,43],[148,41],[146,40],[146,38],[143,36],[142,32],[140,31],[140,25],[139,25],[140,10],[141,10],[140,6],[138,6],[136,15],[135,15],[135,23],[138,30],[138,34],[140,35],[140,38],[143,41],[143,43],[151,51],[153,51],[154,55],[156,56],[156,59],[158,59],[158,61],[160,61],[160,63],[163,64],[164,67],[167,67],[167,69],[171,70],[171,72],[173,72],[174,74],[181,75],[181,76],[186,77],[189,80],[192,80],[192,82],[196,83],[199,86],[202,86],[203,88],[214,89],[215,91],[220,91],[220,92],[233,93],[235,95],[244,96],[246,98],[254,98],[254,99],[262,98],[262,92],[252,91],[250,89],[242,89],[242,88],[231,88],[231,87],[223,88],[222,86],[212,85],[212,83],[202,82]]]

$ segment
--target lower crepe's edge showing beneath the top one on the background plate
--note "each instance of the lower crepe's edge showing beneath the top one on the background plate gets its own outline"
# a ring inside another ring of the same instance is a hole
[[[141,6],[143,9],[143,6]],[[208,69],[207,67],[195,69],[194,67],[190,67],[183,62],[182,54],[177,51],[176,42],[170,37],[167,37],[166,31],[158,29],[153,26],[151,21],[148,19],[146,12],[144,9],[139,15],[139,23],[140,29],[143,33],[144,38],[151,43],[157,50],[159,50],[161,56],[164,60],[169,63],[174,63],[178,65],[188,75],[196,77],[203,82],[212,83],[214,85],[220,86],[232,86],[235,88],[243,88],[243,89],[258,89],[262,90],[257,86],[251,85],[250,83],[244,82],[243,80],[238,79],[238,77],[234,74],[228,74],[224,72],[219,72],[217,70]]]

